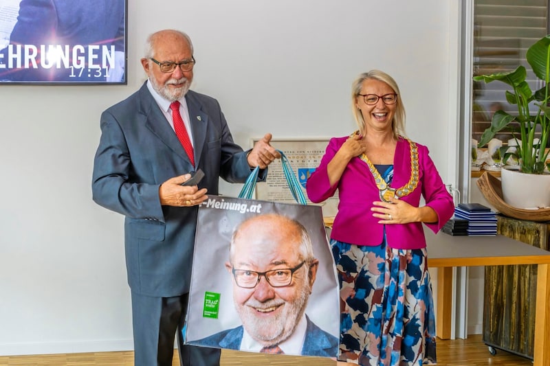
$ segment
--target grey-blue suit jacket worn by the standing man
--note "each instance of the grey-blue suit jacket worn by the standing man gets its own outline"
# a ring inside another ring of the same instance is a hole
[[[206,174],[199,188],[218,194],[219,176],[244,182],[251,171],[246,154],[234,144],[217,100],[193,91],[186,99],[195,163]],[[193,170],[184,148],[146,84],[102,113],[101,130],[93,198],[126,216],[131,289],[157,297],[188,293],[198,209],[161,206],[159,201],[161,183]]]

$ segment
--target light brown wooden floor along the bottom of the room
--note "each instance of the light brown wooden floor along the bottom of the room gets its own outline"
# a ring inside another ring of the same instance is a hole
[[[532,361],[514,354],[497,350],[495,356],[481,339],[481,336],[470,336],[468,339],[456,341],[437,341],[437,359],[439,366],[520,366],[532,365]],[[104,352],[87,354],[52,354],[41,356],[3,356],[0,366],[133,366],[133,352]],[[179,366],[177,354],[174,356],[174,366]],[[223,350],[221,365],[225,366],[334,366],[335,361],[329,358],[294,357],[272,354],[252,354]]]

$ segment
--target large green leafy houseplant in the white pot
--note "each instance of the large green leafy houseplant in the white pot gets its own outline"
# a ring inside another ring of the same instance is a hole
[[[506,152],[503,161],[514,157],[518,159],[521,172],[542,174],[544,173],[544,162],[548,157],[546,146],[550,135],[550,107],[548,105],[550,98],[550,34],[531,45],[527,50],[526,58],[537,78],[544,84],[544,87],[537,91],[531,91],[529,84],[525,81],[527,71],[523,66],[507,73],[474,76],[475,81],[483,80],[488,83],[498,80],[508,84],[512,90],[506,91],[506,100],[509,104],[516,104],[518,107],[518,115],[496,111],[491,126],[483,132],[478,147],[485,146],[496,133],[507,128],[512,122],[517,122],[519,135],[518,131],[514,130],[514,138],[520,140],[520,144],[516,147],[515,152]],[[531,102],[538,107],[536,112],[529,111]],[[540,139],[536,143],[535,137],[538,128],[540,128]],[[546,165],[550,169],[550,163]]]

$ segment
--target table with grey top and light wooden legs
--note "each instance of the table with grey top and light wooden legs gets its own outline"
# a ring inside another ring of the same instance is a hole
[[[537,299],[533,365],[550,366],[550,251],[505,236],[450,236],[425,229],[428,268],[439,268],[436,330],[450,338],[452,267],[537,264]]]

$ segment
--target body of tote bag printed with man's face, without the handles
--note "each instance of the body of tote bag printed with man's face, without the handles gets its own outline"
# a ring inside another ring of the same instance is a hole
[[[209,196],[197,218],[184,342],[336,357],[336,278],[321,207]]]

